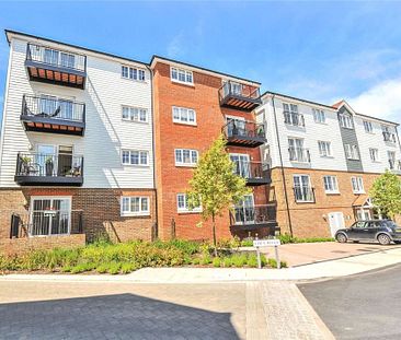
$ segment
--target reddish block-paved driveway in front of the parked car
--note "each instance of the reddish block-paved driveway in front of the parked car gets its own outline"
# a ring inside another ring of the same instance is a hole
[[[279,253],[280,258],[294,267],[400,247],[400,245],[322,242],[286,244],[279,247]],[[267,251],[270,251],[268,257],[274,258],[274,250],[270,248]]]

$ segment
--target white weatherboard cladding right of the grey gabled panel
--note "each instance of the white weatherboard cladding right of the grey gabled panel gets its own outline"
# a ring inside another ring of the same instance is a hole
[[[365,131],[364,120],[370,121],[373,131],[371,133]],[[396,152],[396,160],[401,160],[401,151],[400,144],[386,142],[383,139],[381,124],[377,120],[369,120],[368,118],[354,116],[354,125],[356,134],[358,138],[359,149],[360,149],[360,159],[364,166],[364,172],[366,173],[383,173],[389,168],[388,162],[388,151]],[[390,132],[394,133],[397,137],[394,126],[386,125],[389,127]],[[379,161],[371,162],[369,149],[378,149]]]

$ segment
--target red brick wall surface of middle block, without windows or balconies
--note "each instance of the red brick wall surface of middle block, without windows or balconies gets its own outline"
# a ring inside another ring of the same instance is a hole
[[[172,82],[167,63],[158,62],[153,69],[158,224],[159,235],[164,239],[171,235],[173,220],[177,237],[211,238],[210,222],[202,221],[199,214],[177,213],[176,194],[188,189],[187,183],[194,169],[175,166],[174,149],[195,149],[202,154],[221,133],[226,115],[254,120],[252,113],[220,107],[218,90],[222,84],[221,78],[199,72],[194,72],[193,75],[194,85],[191,86]],[[172,106],[195,109],[197,126],[174,124]],[[251,161],[261,160],[259,148],[228,148],[228,152],[248,153]],[[265,203],[263,187],[255,189],[255,203]],[[232,237],[228,211],[217,220],[217,236]]]

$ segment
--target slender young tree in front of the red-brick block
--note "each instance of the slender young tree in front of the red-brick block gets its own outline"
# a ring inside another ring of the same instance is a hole
[[[220,134],[197,164],[191,189],[187,192],[190,209],[202,206],[204,220],[211,218],[213,242],[217,256],[216,216],[238,203],[250,190],[245,179],[233,172],[234,164],[226,152],[226,141]]]

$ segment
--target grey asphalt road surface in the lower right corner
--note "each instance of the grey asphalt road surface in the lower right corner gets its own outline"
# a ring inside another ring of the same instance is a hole
[[[401,339],[401,265],[298,288],[336,339]],[[345,313],[346,312],[346,313]]]

